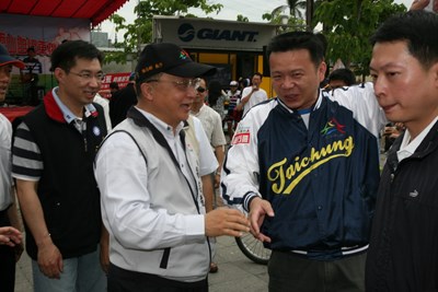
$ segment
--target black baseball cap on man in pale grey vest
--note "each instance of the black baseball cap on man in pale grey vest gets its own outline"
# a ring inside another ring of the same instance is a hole
[[[194,62],[184,49],[174,44],[150,44],[145,47],[138,59],[136,82],[158,73],[197,78],[215,74],[216,70],[216,67]]]

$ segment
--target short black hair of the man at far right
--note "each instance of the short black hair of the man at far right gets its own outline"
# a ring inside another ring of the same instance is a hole
[[[371,44],[404,40],[423,68],[438,62],[438,14],[408,11],[388,19],[370,38]]]

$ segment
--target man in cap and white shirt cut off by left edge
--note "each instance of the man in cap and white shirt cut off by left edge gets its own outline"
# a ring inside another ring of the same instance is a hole
[[[22,61],[12,58],[0,45],[0,103],[4,101],[11,83],[12,66],[24,68]],[[4,292],[14,291],[15,262],[23,250],[21,223],[12,187],[11,143],[11,122],[0,114],[0,285]]]

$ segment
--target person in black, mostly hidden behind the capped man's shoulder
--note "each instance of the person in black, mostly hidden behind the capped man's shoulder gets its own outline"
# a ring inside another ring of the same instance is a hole
[[[126,118],[128,109],[137,104],[135,73],[129,75],[129,83],[112,94],[110,100],[110,118],[113,127]]]

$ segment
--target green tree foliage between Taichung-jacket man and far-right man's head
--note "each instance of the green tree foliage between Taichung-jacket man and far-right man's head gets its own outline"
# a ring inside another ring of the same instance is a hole
[[[388,16],[405,11],[403,4],[395,4],[393,0],[320,1],[313,26],[323,25],[327,63],[341,59],[364,80],[369,73],[371,57],[369,37]]]

